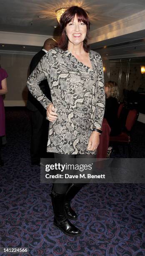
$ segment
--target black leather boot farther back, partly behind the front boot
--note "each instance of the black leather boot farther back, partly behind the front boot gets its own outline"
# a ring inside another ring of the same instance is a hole
[[[67,215],[67,218],[71,220],[77,219],[77,214],[70,206],[70,201],[72,200],[75,195],[80,191],[82,187],[78,187],[75,184],[71,184],[70,187],[67,189],[66,197],[65,197],[65,212]]]

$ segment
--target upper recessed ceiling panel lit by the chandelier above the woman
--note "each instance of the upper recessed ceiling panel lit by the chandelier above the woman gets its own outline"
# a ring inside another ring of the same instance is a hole
[[[90,30],[94,30],[140,12],[144,4],[145,0],[4,0],[0,1],[0,31],[53,35],[55,11],[72,5],[85,8],[92,24]]]

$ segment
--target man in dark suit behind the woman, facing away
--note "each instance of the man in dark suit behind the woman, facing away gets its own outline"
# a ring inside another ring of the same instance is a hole
[[[45,41],[42,50],[35,54],[35,56],[32,58],[30,63],[30,74],[35,69],[42,56],[44,56],[47,51],[55,48],[56,46],[57,42],[52,38],[48,38]],[[47,79],[41,81],[39,86],[46,97],[51,100],[50,88],[48,86]],[[31,111],[31,164],[40,165],[40,158],[47,156],[46,149],[49,121],[46,120],[46,110],[42,107],[40,102],[38,102],[35,97],[32,96],[30,92],[28,92],[27,108]]]

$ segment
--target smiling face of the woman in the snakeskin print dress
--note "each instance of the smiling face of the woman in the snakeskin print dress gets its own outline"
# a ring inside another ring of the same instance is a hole
[[[75,14],[74,20],[70,21],[65,27],[65,31],[68,37],[68,40],[72,44],[80,44],[84,41],[86,33],[87,33],[87,26],[82,21],[77,20],[77,15]]]

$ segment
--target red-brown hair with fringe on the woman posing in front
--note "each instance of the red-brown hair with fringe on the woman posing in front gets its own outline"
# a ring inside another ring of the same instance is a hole
[[[61,28],[61,36],[60,36],[60,42],[59,47],[60,49],[66,51],[68,46],[68,38],[65,33],[65,27],[67,24],[75,18],[75,14],[77,15],[78,22],[82,21],[87,26],[87,34],[85,36],[85,39],[83,41],[83,48],[86,52],[89,51],[89,45],[87,44],[87,40],[89,38],[89,30],[90,30],[90,21],[88,18],[87,13],[85,10],[78,6],[72,6],[68,8],[61,16],[60,18],[60,28]]]

